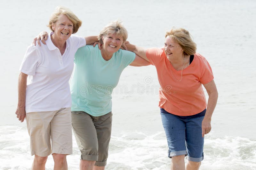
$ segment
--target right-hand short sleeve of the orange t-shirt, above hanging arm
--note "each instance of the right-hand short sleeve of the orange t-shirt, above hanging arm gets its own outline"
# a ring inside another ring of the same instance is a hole
[[[210,81],[213,80],[213,73],[212,73],[212,68],[208,61],[202,57],[201,59],[201,77],[200,77],[200,82],[202,84],[209,83]]]

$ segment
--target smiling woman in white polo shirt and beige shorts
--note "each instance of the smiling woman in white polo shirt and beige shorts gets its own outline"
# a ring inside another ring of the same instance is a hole
[[[49,27],[46,45],[28,47],[20,66],[17,118],[26,117],[30,136],[32,169],[45,169],[52,153],[54,169],[67,169],[66,155],[72,154],[71,95],[69,78],[76,50],[95,37],[78,37],[82,22],[69,9],[57,7]],[[27,78],[29,81],[27,82]],[[51,141],[52,140],[52,146]]]

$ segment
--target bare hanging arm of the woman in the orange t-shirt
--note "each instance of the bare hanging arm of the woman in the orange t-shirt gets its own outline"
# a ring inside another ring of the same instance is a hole
[[[206,113],[202,122],[202,137],[204,137],[204,135],[209,133],[212,129],[211,127],[212,113],[215,109],[215,106],[218,100],[218,91],[214,81],[212,80],[209,83],[206,83],[203,85],[209,95],[209,98],[208,98]]]

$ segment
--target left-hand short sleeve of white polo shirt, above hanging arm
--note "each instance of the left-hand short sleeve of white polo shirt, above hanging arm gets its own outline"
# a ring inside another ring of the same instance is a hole
[[[29,46],[22,60],[20,72],[28,75],[35,75],[36,67],[38,67],[39,64],[39,59],[40,56],[37,48],[34,45]]]

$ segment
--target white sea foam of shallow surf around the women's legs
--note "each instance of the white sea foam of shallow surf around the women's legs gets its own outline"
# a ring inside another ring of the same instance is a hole
[[[0,126],[0,132],[0,169],[29,169],[33,157],[30,156],[27,130],[15,126]],[[106,170],[170,169],[171,159],[167,157],[167,151],[164,132],[153,135],[139,131],[112,134]],[[67,156],[68,168],[79,169],[79,158],[80,153],[73,137],[73,155]],[[53,164],[50,155],[46,169],[52,169]],[[201,169],[256,169],[256,140],[207,135]]]

